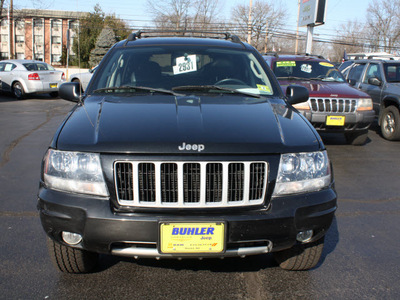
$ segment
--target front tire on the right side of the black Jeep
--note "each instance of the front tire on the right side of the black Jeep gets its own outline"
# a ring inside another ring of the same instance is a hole
[[[309,270],[315,267],[321,258],[324,239],[325,237],[309,244],[298,244],[290,249],[274,252],[274,258],[284,270]]]

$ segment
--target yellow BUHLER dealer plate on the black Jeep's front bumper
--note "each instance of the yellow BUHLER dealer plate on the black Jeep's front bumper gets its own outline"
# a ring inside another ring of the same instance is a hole
[[[224,223],[162,223],[162,253],[221,253],[224,251]]]

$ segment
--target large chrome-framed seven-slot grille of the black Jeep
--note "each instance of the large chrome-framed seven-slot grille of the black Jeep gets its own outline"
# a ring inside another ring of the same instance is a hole
[[[126,162],[114,164],[120,205],[231,207],[264,201],[265,162]]]

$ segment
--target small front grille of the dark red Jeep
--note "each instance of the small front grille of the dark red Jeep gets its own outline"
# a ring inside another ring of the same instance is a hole
[[[353,113],[357,109],[357,99],[310,98],[309,103],[313,112]]]

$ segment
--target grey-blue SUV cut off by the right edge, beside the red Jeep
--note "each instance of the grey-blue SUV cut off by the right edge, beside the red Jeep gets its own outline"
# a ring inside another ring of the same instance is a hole
[[[400,140],[400,61],[356,60],[344,76],[350,85],[371,96],[382,136]]]

